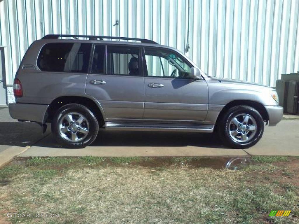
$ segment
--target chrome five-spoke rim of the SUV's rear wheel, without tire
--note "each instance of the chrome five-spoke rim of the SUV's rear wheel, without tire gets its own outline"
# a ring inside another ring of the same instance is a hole
[[[79,142],[89,133],[89,122],[80,113],[67,113],[59,122],[59,133],[70,142]]]

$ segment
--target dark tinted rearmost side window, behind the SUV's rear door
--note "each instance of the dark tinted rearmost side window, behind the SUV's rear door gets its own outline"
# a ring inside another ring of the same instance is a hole
[[[42,71],[87,73],[91,44],[50,43],[42,47],[37,65]]]

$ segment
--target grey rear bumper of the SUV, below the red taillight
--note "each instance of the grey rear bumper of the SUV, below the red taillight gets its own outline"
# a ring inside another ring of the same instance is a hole
[[[49,105],[10,103],[8,105],[10,116],[13,119],[45,123],[45,115]]]

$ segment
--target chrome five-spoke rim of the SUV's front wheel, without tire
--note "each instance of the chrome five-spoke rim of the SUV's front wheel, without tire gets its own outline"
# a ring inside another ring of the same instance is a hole
[[[235,142],[245,143],[250,141],[257,132],[257,122],[251,115],[241,113],[231,119],[227,131]]]

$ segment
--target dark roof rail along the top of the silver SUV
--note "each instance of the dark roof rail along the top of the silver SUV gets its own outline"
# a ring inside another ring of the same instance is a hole
[[[133,37],[118,37],[118,36],[91,36],[91,35],[68,35],[68,34],[48,34],[44,36],[42,39],[58,39],[59,37],[73,37],[78,39],[78,37],[85,37],[89,39],[118,39],[118,40],[136,40],[140,41],[141,43],[149,43],[149,44],[158,44],[155,41],[148,40],[148,39],[141,39],[141,38],[133,38]]]

